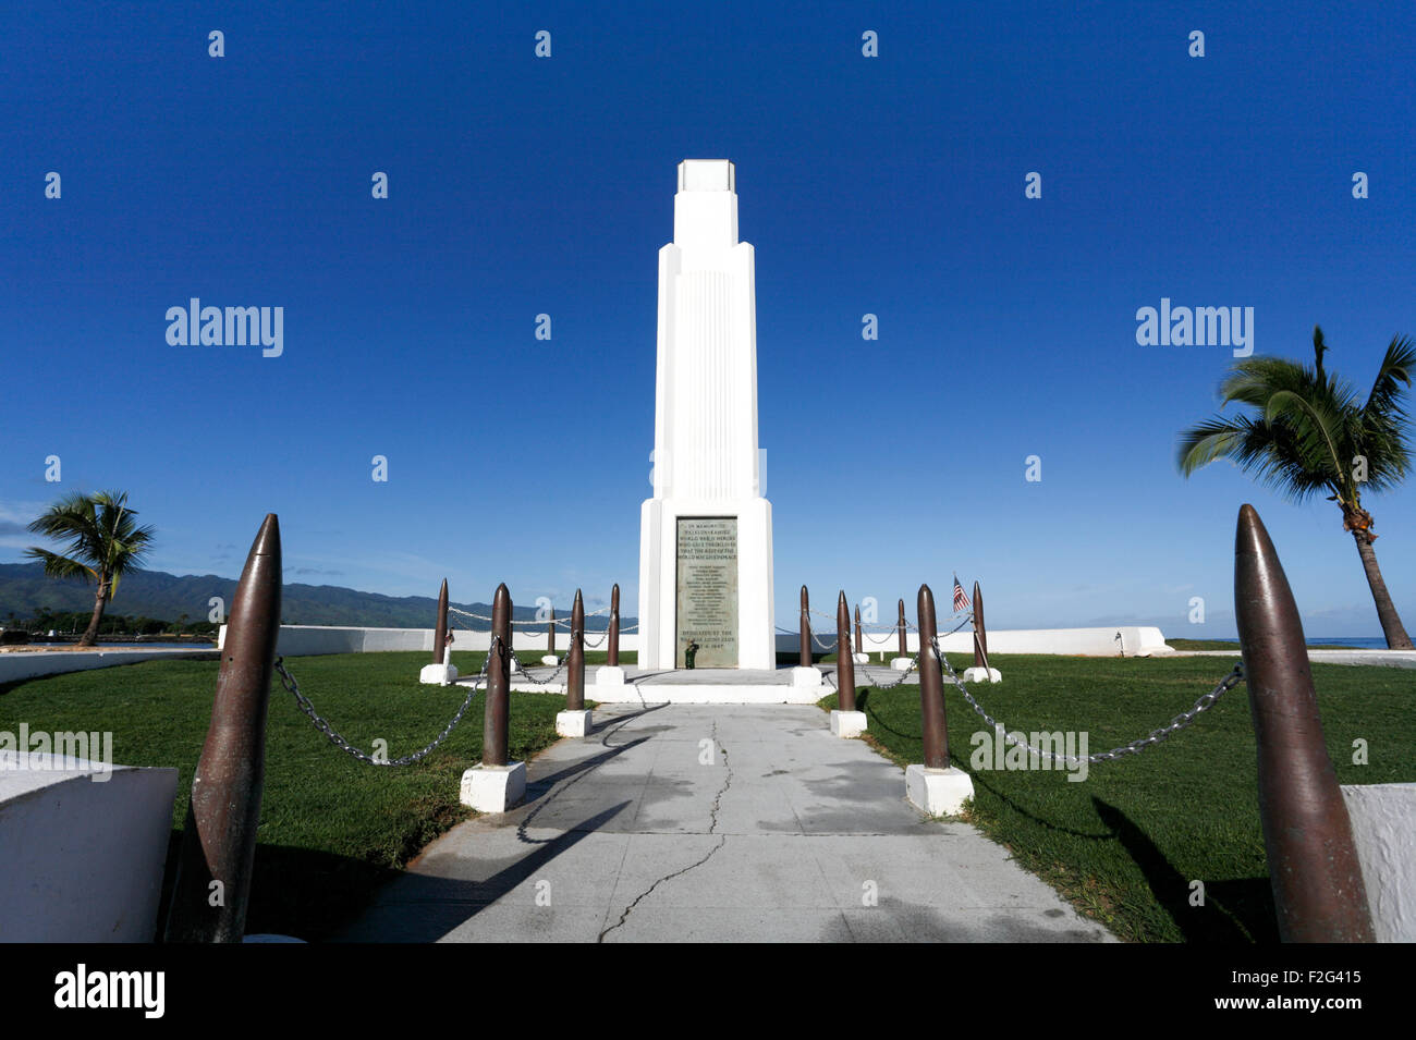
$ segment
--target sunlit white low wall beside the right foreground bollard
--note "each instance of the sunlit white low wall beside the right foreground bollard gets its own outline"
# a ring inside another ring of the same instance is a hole
[[[1416,784],[1344,785],[1378,942],[1416,942]]]

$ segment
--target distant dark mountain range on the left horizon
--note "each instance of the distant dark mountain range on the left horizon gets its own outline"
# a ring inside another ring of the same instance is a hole
[[[235,591],[236,583],[229,577],[137,570],[123,576],[108,610],[163,621],[177,621],[185,614],[188,621],[204,621],[212,596],[219,596],[229,611]],[[491,616],[486,603],[452,606]],[[45,577],[42,563],[0,563],[0,624],[11,611],[24,618],[33,617],[41,607],[65,613],[93,610],[93,586]],[[432,596],[382,596],[333,584],[287,584],[280,593],[280,616],[285,624],[432,628],[438,600]],[[531,620],[535,607],[513,607],[513,616],[518,621]],[[556,617],[569,616],[569,607],[556,607]],[[490,627],[487,621],[469,617],[453,616],[450,620],[455,628],[486,631]],[[620,624],[632,625],[634,618],[622,617]],[[607,625],[609,614],[585,618],[586,631],[603,631]]]

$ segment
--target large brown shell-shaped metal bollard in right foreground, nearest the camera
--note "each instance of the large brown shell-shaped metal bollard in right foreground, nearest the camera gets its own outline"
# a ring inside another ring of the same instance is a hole
[[[1284,942],[1372,942],[1352,825],[1323,740],[1307,642],[1252,505],[1235,535],[1235,620],[1259,746],[1259,815]]]

